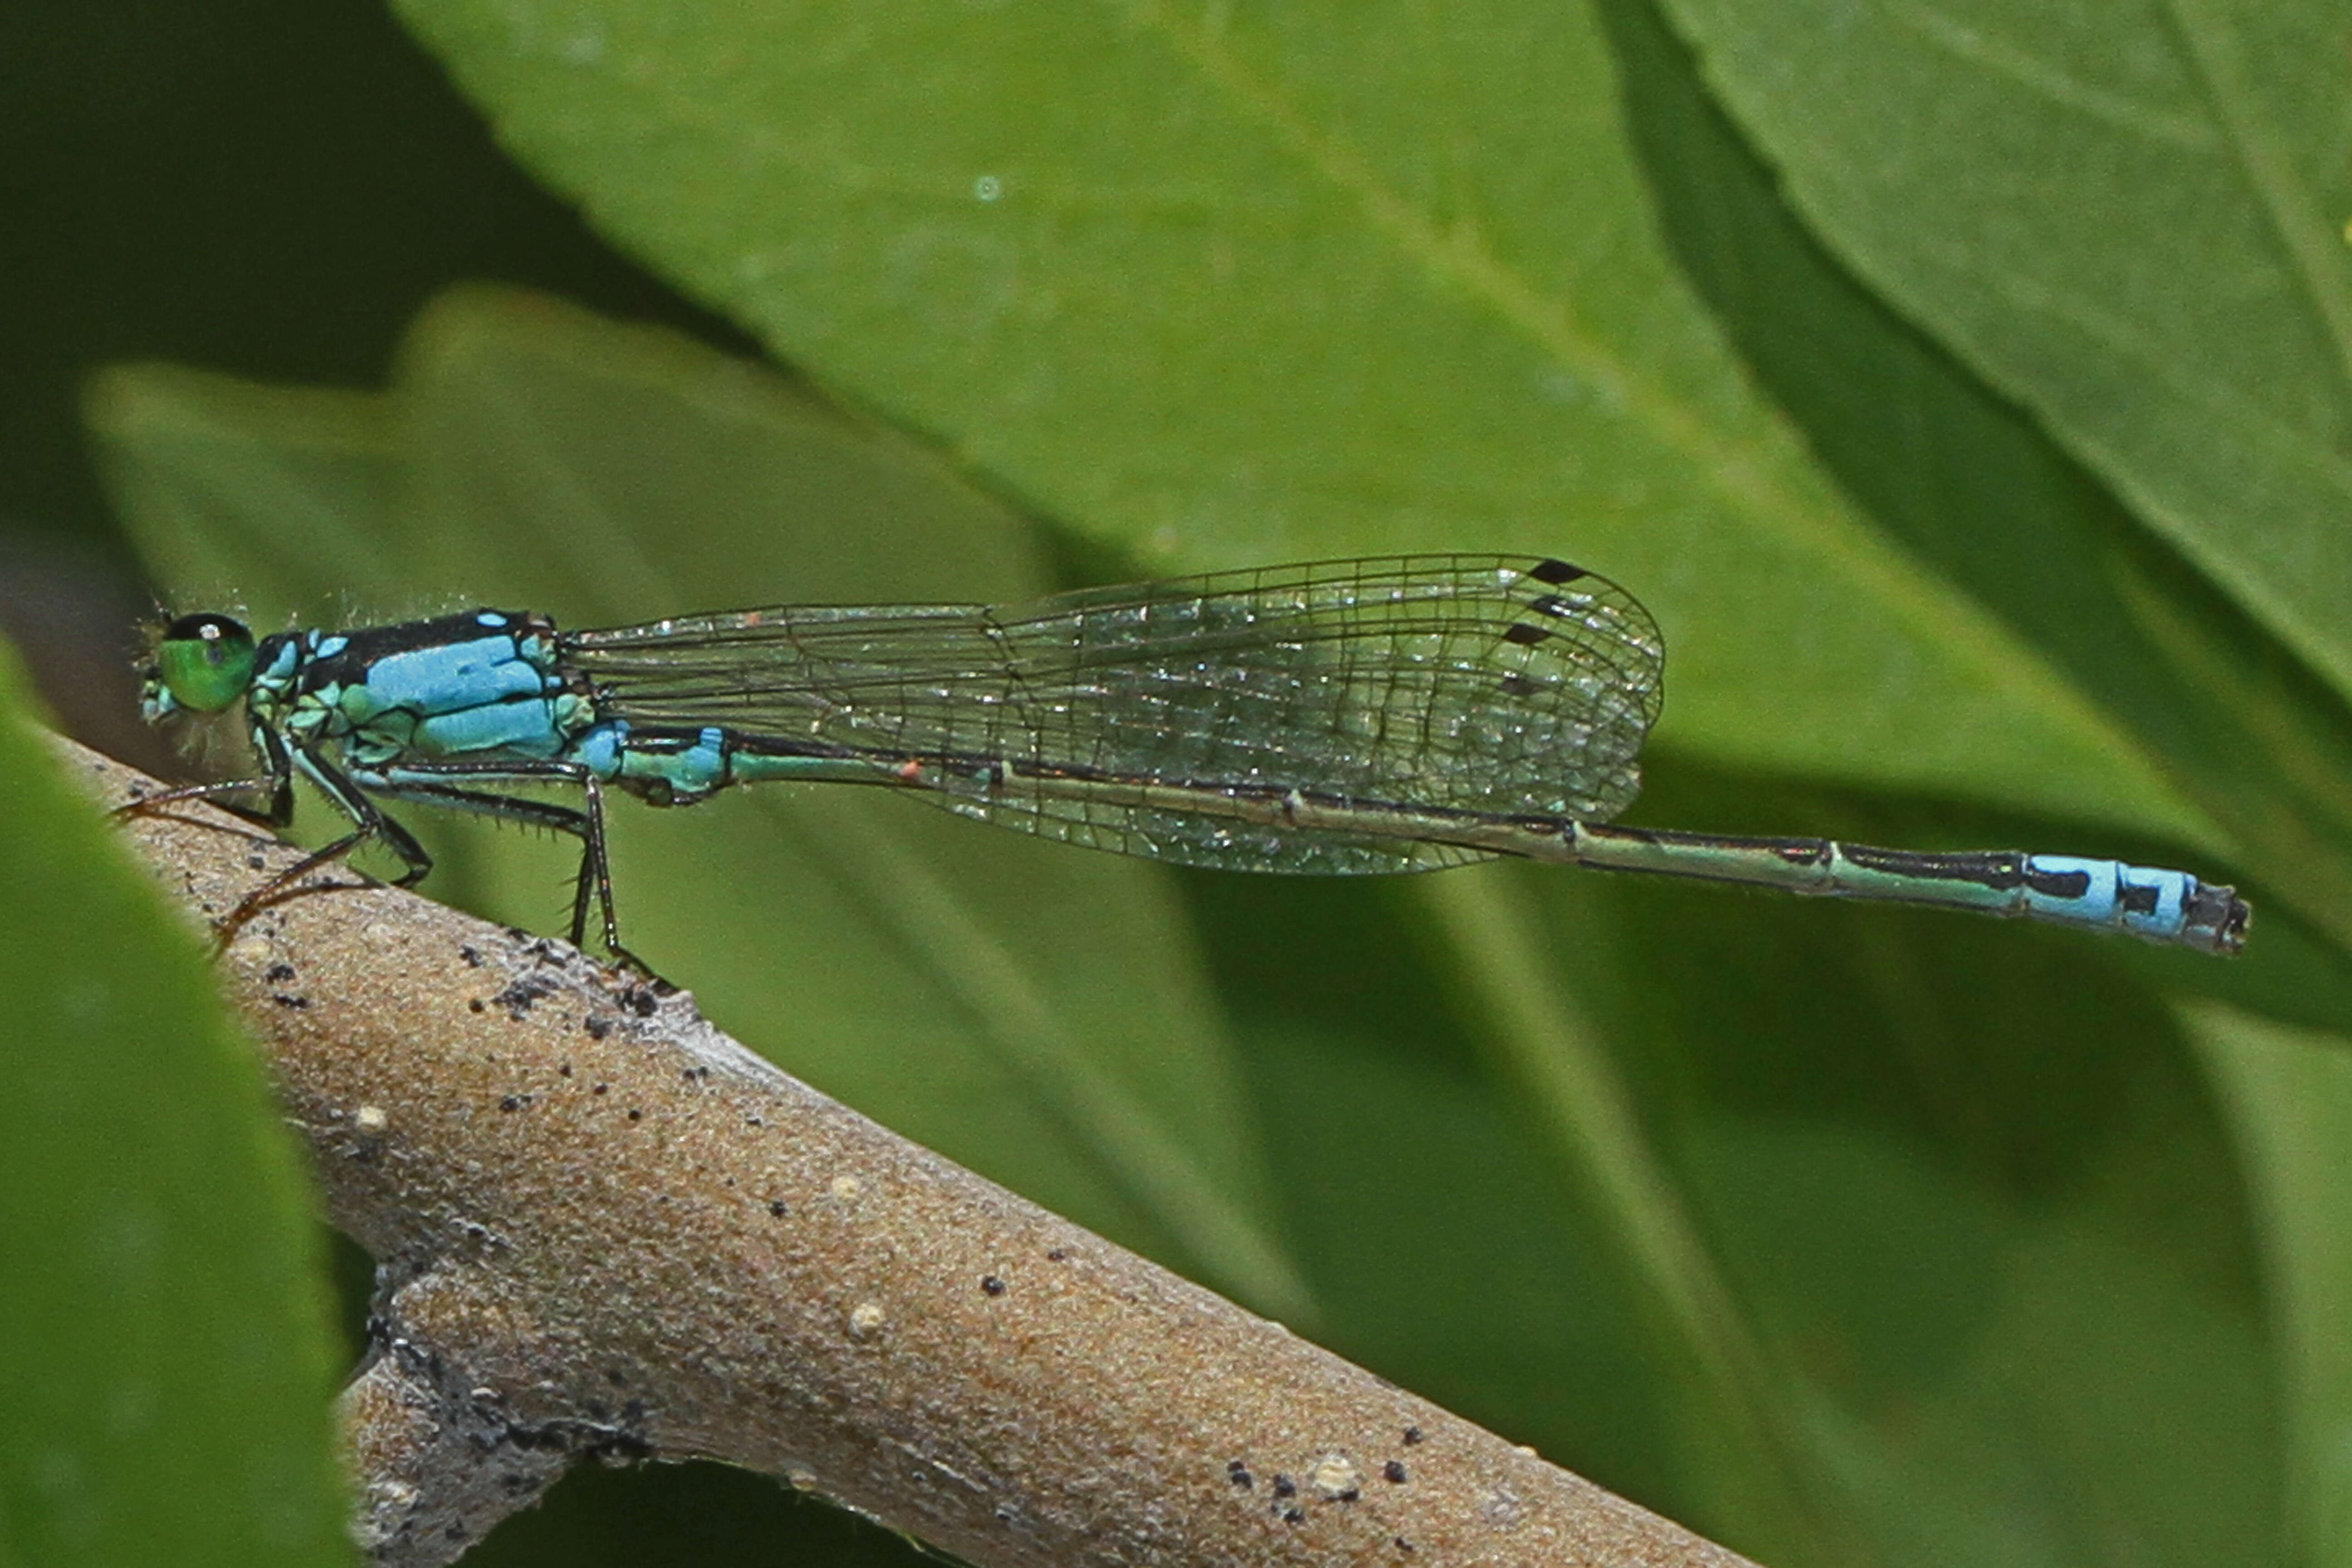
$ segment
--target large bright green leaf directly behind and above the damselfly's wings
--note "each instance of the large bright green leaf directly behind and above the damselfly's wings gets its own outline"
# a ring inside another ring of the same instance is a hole
[[[1663,745],[2218,842],[1752,395],[1583,12],[407,14],[607,233],[1145,569],[1571,555]]]

